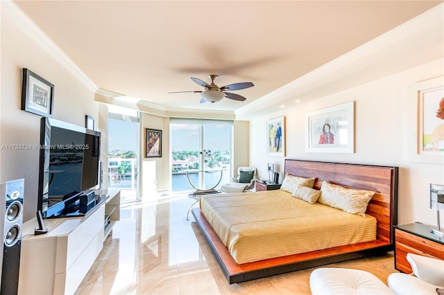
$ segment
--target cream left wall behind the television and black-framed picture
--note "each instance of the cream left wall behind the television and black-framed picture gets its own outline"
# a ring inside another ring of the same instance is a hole
[[[97,118],[97,103],[91,84],[67,70],[54,53],[48,53],[42,46],[44,40],[35,41],[26,19],[17,25],[21,16],[14,8],[13,3],[1,3],[0,145],[38,145],[41,116],[21,110],[22,68],[54,84],[53,118],[85,126],[85,115]],[[1,183],[25,179],[24,221],[35,217],[39,150],[3,148],[0,161]]]

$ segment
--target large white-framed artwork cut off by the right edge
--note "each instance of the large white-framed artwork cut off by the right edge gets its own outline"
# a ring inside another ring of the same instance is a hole
[[[414,84],[409,102],[409,159],[443,164],[444,77]]]

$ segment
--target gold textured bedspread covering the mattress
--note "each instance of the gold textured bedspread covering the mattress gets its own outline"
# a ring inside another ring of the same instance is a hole
[[[283,190],[206,195],[200,210],[238,264],[376,239],[374,217]]]

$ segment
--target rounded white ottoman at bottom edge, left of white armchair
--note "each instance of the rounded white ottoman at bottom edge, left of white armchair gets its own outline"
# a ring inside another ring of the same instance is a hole
[[[310,274],[313,295],[395,294],[379,278],[358,269],[320,268]]]

